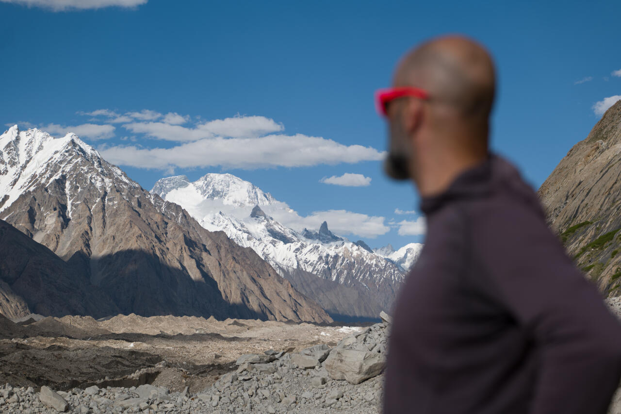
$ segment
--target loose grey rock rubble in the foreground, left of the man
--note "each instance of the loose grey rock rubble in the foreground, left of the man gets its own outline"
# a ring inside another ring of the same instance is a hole
[[[335,347],[265,351],[237,359],[237,370],[196,394],[163,387],[71,389],[0,387],[2,413],[378,413],[389,316]]]

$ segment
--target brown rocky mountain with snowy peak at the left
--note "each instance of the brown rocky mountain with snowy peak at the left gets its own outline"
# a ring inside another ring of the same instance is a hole
[[[0,219],[65,260],[79,280],[62,283],[97,288],[123,313],[330,321],[255,252],[206,231],[74,134],[13,126],[0,135]],[[25,289],[29,306],[41,291]]]

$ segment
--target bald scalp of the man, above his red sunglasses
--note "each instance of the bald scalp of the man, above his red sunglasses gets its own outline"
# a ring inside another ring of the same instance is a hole
[[[473,40],[445,36],[430,40],[404,57],[394,86],[416,86],[430,101],[453,109],[466,122],[487,123],[494,102],[494,64]]]

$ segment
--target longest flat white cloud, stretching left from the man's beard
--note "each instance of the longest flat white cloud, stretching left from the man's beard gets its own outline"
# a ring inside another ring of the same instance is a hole
[[[181,126],[159,124],[166,128],[168,134],[181,137],[188,129]],[[133,132],[140,131],[138,126],[149,124],[132,124]],[[294,136],[270,135],[259,138],[222,137],[200,139],[203,131],[191,130],[196,136],[190,137],[194,142],[186,142],[172,148],[143,149],[135,146],[107,147],[101,150],[103,157],[118,165],[130,165],[138,168],[155,168],[171,170],[171,167],[224,167],[224,168],[270,168],[270,167],[309,167],[312,165],[338,163],[357,163],[361,161],[378,161],[384,158],[384,152],[362,145],[343,145],[331,139],[309,137],[302,134]],[[150,133],[153,133],[151,131]]]

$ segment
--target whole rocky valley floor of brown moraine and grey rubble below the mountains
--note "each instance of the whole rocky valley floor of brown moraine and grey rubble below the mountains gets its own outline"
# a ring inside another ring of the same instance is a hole
[[[387,326],[0,316],[0,412],[376,413]]]

